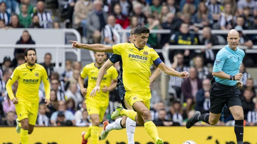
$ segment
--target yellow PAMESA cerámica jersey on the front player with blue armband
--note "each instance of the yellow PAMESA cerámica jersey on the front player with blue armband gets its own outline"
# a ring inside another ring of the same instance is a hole
[[[145,46],[138,49],[133,43],[113,45],[115,54],[121,55],[123,67],[123,83],[126,91],[150,90],[150,66],[159,55],[154,49]]]

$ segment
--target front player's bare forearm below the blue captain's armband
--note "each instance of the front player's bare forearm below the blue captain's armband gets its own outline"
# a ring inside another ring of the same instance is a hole
[[[168,67],[165,65],[163,62],[158,65],[158,67],[166,74],[169,74],[171,76],[176,76],[180,78],[187,78],[188,77],[188,72],[178,72],[174,70],[171,67]]]

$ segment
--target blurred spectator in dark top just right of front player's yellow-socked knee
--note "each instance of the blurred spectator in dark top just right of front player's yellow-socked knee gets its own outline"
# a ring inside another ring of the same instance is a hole
[[[159,110],[158,119],[154,119],[153,123],[156,126],[172,126],[173,122],[166,119],[166,111],[164,109]]]

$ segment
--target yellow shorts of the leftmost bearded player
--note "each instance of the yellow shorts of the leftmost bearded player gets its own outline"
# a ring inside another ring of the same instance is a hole
[[[15,105],[15,110],[19,121],[28,118],[30,125],[36,125],[38,104],[18,102],[18,104]]]

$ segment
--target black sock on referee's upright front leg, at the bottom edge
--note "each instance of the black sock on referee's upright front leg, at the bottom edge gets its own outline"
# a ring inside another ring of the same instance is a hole
[[[237,137],[237,144],[243,144],[244,120],[235,120],[235,134]]]

